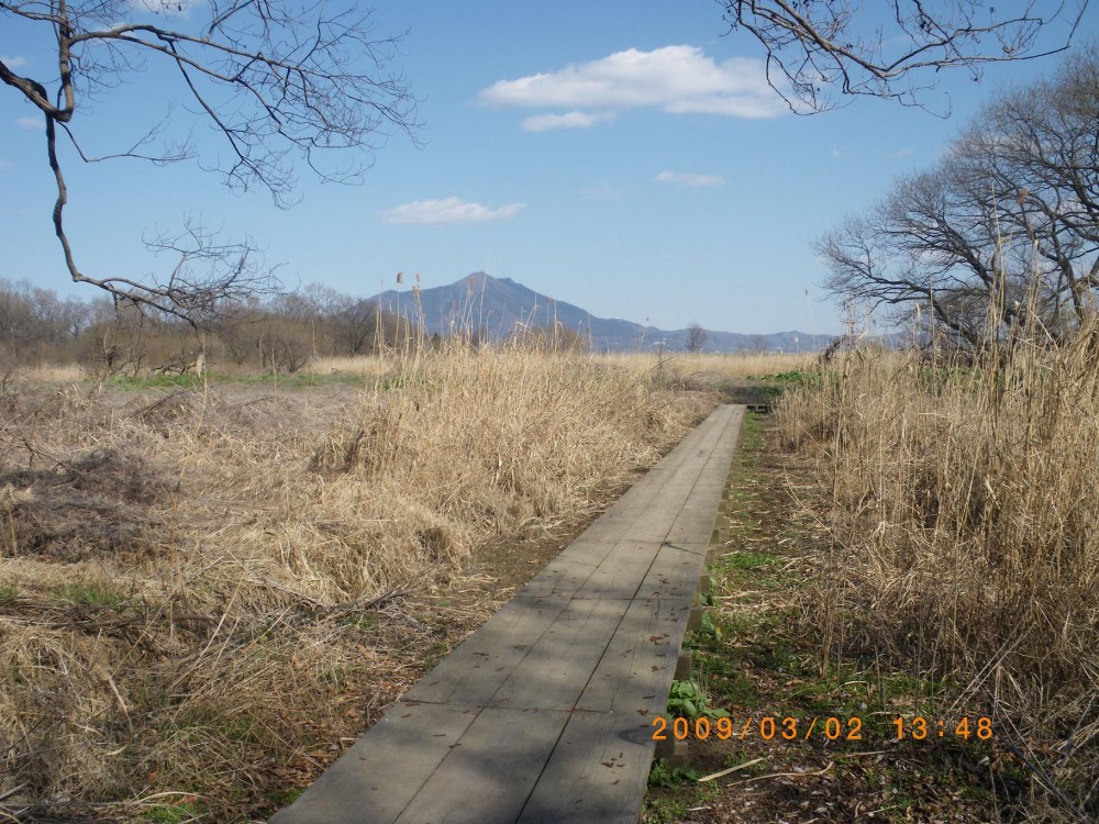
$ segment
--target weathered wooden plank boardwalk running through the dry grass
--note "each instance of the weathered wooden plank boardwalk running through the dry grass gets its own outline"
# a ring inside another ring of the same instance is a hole
[[[271,824],[636,822],[743,407],[721,407]]]

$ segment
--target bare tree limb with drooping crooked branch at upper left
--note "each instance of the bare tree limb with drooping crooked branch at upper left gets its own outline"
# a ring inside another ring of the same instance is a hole
[[[370,13],[354,5],[331,12],[321,2],[27,0],[0,2],[0,21],[20,24],[29,36],[48,30],[56,42],[56,64],[46,74],[23,76],[0,60],[0,80],[45,119],[57,189],[53,224],[69,275],[116,302],[195,322],[268,285],[273,275],[253,244],[218,241],[195,224],[178,236],[152,240],[155,249],[178,259],[164,277],[92,277],[78,266],[65,232],[69,193],[59,132],[88,163],[133,158],[163,165],[199,156],[195,142],[173,137],[169,119],[154,121],[136,144],[103,157],[88,155],[78,142],[86,129],[77,129],[77,115],[87,103],[123,93],[146,63],[174,69],[178,93],[221,141],[227,162],[210,168],[236,191],[266,189],[280,208],[293,201],[297,162],[323,180],[355,181],[391,134],[415,140],[415,100],[403,77],[388,68],[396,41],[375,37]],[[328,156],[338,149],[357,152],[359,160],[331,163]]]

